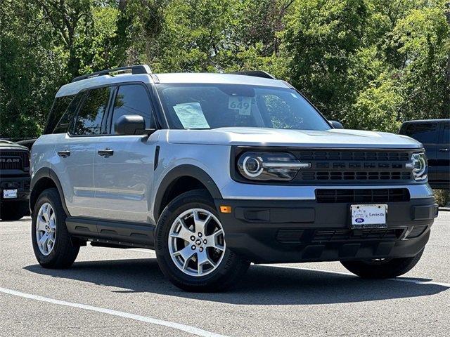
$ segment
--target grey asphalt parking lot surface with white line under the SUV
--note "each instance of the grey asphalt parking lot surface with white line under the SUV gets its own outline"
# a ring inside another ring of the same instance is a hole
[[[34,259],[30,218],[0,222],[0,336],[448,336],[450,212],[418,265],[364,280],[340,263],[252,265],[226,293],[186,293],[153,251],[82,247],[68,270]]]

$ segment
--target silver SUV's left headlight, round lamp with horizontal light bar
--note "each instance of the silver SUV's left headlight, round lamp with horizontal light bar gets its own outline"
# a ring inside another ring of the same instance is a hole
[[[311,167],[293,154],[284,152],[244,152],[238,159],[238,171],[250,180],[293,180],[299,169]]]

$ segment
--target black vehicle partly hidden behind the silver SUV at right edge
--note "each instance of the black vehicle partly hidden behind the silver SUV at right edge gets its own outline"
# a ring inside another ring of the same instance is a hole
[[[428,158],[428,183],[432,188],[450,189],[450,119],[405,121],[400,134],[418,140]]]

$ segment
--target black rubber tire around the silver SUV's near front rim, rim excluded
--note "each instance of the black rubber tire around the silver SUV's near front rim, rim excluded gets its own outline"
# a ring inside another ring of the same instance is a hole
[[[186,193],[186,195],[181,195],[180,197],[174,199],[174,201],[172,201],[162,212],[156,227],[155,251],[158,258],[158,264],[160,265],[162,272],[178,286],[208,288],[214,284],[217,284],[217,282],[219,282],[220,279],[229,272],[230,268],[233,268],[233,259],[236,258],[236,255],[226,247],[224,257],[222,258],[220,265],[216,270],[205,276],[194,277],[191,275],[186,275],[184,272],[179,270],[179,268],[174,264],[174,261],[169,253],[169,230],[172,227],[174,220],[188,209],[205,209],[206,211],[214,214],[214,216],[220,220],[219,214],[214,208],[212,201],[201,192],[189,192]],[[226,241],[225,229],[224,239]]]

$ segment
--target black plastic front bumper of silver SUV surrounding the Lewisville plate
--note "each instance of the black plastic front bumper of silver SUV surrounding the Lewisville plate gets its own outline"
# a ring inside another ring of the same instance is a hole
[[[216,199],[226,245],[254,263],[415,256],[437,216],[432,197],[388,205],[387,229],[350,230],[349,203],[313,200]]]

